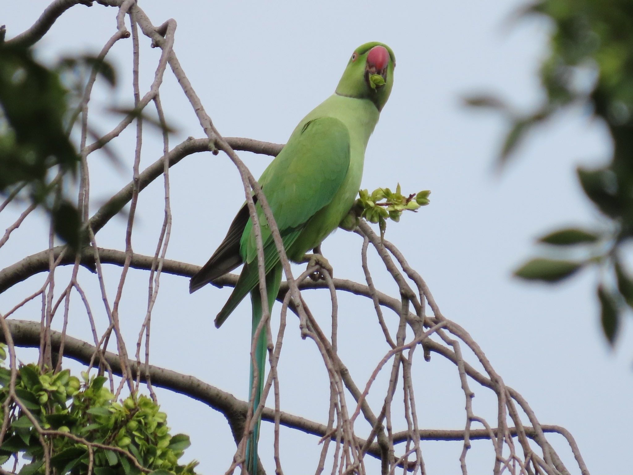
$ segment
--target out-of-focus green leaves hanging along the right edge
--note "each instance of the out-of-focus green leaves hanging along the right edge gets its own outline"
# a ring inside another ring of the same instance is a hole
[[[613,139],[610,162],[598,169],[577,168],[584,193],[603,213],[606,225],[565,228],[544,236],[540,241],[554,258],[531,260],[516,274],[556,282],[584,267],[600,267],[596,292],[601,322],[613,344],[622,314],[633,307],[633,277],[622,263],[624,245],[633,238],[633,2],[539,0],[524,13],[547,18],[552,26],[549,54],[540,72],[544,103],[527,115],[514,113],[496,98],[480,96],[468,103],[508,117],[501,163],[530,128],[566,108],[590,110],[608,127]]]

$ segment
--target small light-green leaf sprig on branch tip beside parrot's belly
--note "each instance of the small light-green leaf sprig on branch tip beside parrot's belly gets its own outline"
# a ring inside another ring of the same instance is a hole
[[[358,192],[359,198],[354,204],[354,210],[361,218],[377,223],[380,227],[380,239],[384,239],[387,219],[398,222],[404,210],[417,212],[420,206],[430,203],[430,193],[429,190],[425,190],[404,196],[399,183],[396,191],[391,191],[389,188],[377,188],[370,194],[366,189],[361,189]]]

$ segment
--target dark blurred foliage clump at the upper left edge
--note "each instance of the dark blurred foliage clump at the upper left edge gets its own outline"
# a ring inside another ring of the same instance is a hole
[[[51,215],[58,236],[77,247],[80,218],[61,194],[79,165],[64,127],[67,108],[58,72],[28,49],[0,43],[0,195],[27,189]]]

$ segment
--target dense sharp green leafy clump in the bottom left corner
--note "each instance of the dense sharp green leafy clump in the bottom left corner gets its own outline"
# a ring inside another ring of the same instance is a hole
[[[4,359],[4,348],[0,348]],[[51,467],[57,474],[85,474],[89,451],[85,443],[68,438],[73,434],[93,446],[92,471],[96,475],[138,475],[141,471],[125,452],[131,454],[147,471],[176,475],[194,475],[197,462],[179,465],[189,436],[171,435],[166,414],[147,396],[128,396],[115,402],[104,387],[103,376],[82,379],[71,376],[68,369],[53,373],[41,372],[36,365],[22,365],[18,370],[15,393],[44,430],[58,431],[46,438],[51,445]],[[11,372],[0,368],[0,402],[9,395]],[[0,412],[4,417],[4,413]],[[44,452],[39,434],[26,414],[15,402],[9,404],[9,427],[0,446],[0,463],[23,454],[30,463],[20,475],[44,473]],[[116,450],[120,448],[122,450]],[[113,449],[113,450],[112,450]],[[125,452],[123,452],[125,450]]]

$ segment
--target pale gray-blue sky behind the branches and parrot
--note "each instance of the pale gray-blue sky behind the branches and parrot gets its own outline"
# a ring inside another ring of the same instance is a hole
[[[394,187],[400,182],[404,191],[430,189],[432,194],[430,206],[389,225],[387,239],[426,279],[444,315],[472,334],[505,383],[527,399],[539,420],[571,431],[592,473],[630,470],[622,457],[630,450],[633,425],[629,319],[617,351],[611,352],[599,333],[594,274],[584,272],[555,287],[510,277],[511,270],[534,253],[536,236],[560,224],[598,218],[582,198],[573,170],[578,163],[598,163],[608,156],[611,144],[606,131],[591,122],[586,111],[575,110],[536,129],[513,163],[496,175],[494,156],[505,124],[494,115],[467,110],[460,102],[468,93],[492,91],[522,108],[536,105],[541,97],[537,66],[544,52],[546,23],[527,20],[511,25],[511,13],[523,4],[518,1],[365,0],[308,5],[146,0],[139,4],[155,25],[168,18],[177,20],[175,51],[225,136],[283,143],[296,123],[334,91],[356,46],[367,41],[389,44],[398,58],[394,89],[367,149],[363,187]],[[46,5],[47,1],[38,0],[1,6],[7,37],[30,26]],[[39,43],[38,54],[54,60],[61,54],[99,51],[115,31],[114,18],[113,10],[97,4],[75,6]],[[150,50],[145,37],[141,44],[141,89],[146,89],[160,52]],[[115,92],[103,84],[96,88],[91,106],[95,111],[112,102],[132,104],[130,51],[131,41],[120,41],[108,56],[120,72],[120,85]],[[187,136],[203,136],[169,71],[161,100],[166,117],[179,129],[172,144]],[[92,125],[106,132],[113,124],[114,117]],[[132,130],[114,147],[130,162]],[[161,148],[158,136],[148,132],[142,164],[156,160]],[[240,155],[256,176],[268,163],[264,156]],[[103,155],[91,160],[96,208],[129,177],[111,171]],[[172,168],[170,178],[173,229],[167,257],[203,264],[243,201],[239,175],[227,157],[207,153],[183,160]],[[141,194],[136,252],[154,252],[163,219],[162,186],[156,181]],[[13,210],[15,215],[19,212]],[[6,227],[5,219],[8,225],[3,213],[0,228]],[[113,220],[98,234],[99,245],[122,249],[124,225],[123,219]],[[27,220],[0,251],[0,267],[46,248],[45,229],[41,215]],[[325,241],[323,252],[337,277],[363,281],[360,243],[358,236],[343,231]],[[377,260],[372,263],[379,269]],[[118,272],[108,270],[111,292]],[[379,288],[382,284],[386,291],[396,291],[384,276],[375,278]],[[39,286],[41,279],[34,277],[1,295],[0,312],[12,307],[17,296]],[[145,312],[146,273],[132,271],[130,279],[122,318],[132,345]],[[229,289],[209,287],[190,296],[187,279],[165,274],[161,279],[152,324],[153,363],[193,374],[245,398],[249,304],[242,304],[218,330],[212,320]],[[97,291],[96,279],[87,289]],[[313,310],[329,314],[327,305],[320,304],[319,296],[324,294],[308,296]],[[353,297],[339,299],[341,341],[348,345],[341,343],[339,354],[354,377],[365,381],[387,350],[384,338],[369,301],[354,310]],[[34,303],[16,317],[39,318],[38,306]],[[69,334],[82,336],[85,331],[77,311]],[[280,362],[282,409],[325,421],[327,400],[320,391],[327,390],[327,379],[315,361],[319,362],[315,346],[299,338],[291,320]],[[429,364],[418,362],[417,368],[423,426],[463,428],[463,393],[456,368],[437,355]],[[377,387],[384,387],[385,381],[379,380]],[[492,400],[486,391],[474,389],[475,410],[494,420]],[[377,404],[382,391],[370,393],[370,402]],[[198,459],[203,474],[230,465],[235,446],[221,414],[166,391],[159,397],[174,432],[191,435],[192,447],[185,459]],[[292,431],[283,431],[282,436],[286,472],[301,472],[304,464],[316,466],[320,447],[315,447],[315,437]],[[272,428],[263,423],[262,446],[270,440]],[[550,440],[555,447],[564,447],[560,436]],[[459,470],[461,443],[423,443],[422,447],[430,474]],[[265,466],[273,467],[272,456],[262,453]],[[571,453],[561,449],[560,455],[572,469]],[[494,460],[489,443],[474,443],[468,460],[475,472],[489,470]]]

